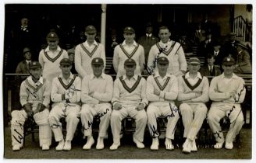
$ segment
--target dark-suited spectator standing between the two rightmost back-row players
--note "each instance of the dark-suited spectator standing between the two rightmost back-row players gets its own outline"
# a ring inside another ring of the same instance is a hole
[[[145,53],[145,63],[148,63],[148,54],[149,50],[155,43],[158,43],[158,37],[155,37],[153,35],[153,26],[151,23],[147,23],[146,26],[146,33],[144,36],[141,36],[138,40],[138,43],[144,47],[144,53]]]

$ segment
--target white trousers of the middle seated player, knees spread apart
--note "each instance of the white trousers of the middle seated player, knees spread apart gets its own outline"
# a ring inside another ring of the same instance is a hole
[[[123,108],[113,110],[111,114],[110,124],[113,135],[114,144],[119,144],[122,120],[127,116],[132,117],[136,122],[136,129],[133,134],[140,142],[144,140],[144,131],[147,126],[147,114],[144,109],[138,111],[134,105],[122,105]]]

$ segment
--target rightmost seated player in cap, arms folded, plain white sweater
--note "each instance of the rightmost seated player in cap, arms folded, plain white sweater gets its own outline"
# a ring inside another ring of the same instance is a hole
[[[240,103],[244,102],[244,79],[233,73],[235,69],[233,57],[225,57],[222,61],[224,72],[212,79],[209,88],[209,97],[212,106],[208,112],[208,124],[215,136],[216,149],[222,148],[225,141],[226,149],[233,149],[233,140],[244,125],[244,116]],[[223,117],[230,120],[229,131],[224,139],[219,121]]]

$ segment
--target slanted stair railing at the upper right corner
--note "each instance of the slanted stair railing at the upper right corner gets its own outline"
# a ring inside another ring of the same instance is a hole
[[[251,42],[252,30],[251,26],[244,20],[243,16],[237,16],[233,20],[233,33],[243,41]]]

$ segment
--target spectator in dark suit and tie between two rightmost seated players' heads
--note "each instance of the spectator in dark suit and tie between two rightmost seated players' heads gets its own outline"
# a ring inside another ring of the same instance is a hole
[[[219,66],[215,65],[215,57],[207,55],[207,64],[200,69],[202,76],[219,76],[221,74]]]

